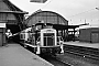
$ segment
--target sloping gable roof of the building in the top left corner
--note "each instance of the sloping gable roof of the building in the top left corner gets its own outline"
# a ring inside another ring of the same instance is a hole
[[[9,0],[0,0],[0,12],[1,13],[23,13],[26,14],[28,12],[22,11]]]

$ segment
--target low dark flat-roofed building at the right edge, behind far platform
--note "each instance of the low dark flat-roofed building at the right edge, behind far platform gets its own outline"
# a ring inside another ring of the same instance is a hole
[[[89,28],[79,30],[79,41],[99,43],[99,28]]]

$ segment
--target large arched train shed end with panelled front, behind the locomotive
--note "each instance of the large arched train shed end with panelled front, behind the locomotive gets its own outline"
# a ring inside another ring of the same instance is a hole
[[[26,20],[25,24],[32,26],[36,23],[53,23],[53,24],[68,24],[68,20],[62,16],[59,13],[53,11],[42,11],[41,9],[33,12]]]

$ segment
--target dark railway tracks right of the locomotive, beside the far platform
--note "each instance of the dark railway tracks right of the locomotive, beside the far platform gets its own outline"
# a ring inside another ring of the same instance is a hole
[[[82,46],[74,46],[74,45],[64,45],[65,53],[70,53],[75,55],[79,55],[87,58],[98,59],[99,61],[99,50],[82,47]]]

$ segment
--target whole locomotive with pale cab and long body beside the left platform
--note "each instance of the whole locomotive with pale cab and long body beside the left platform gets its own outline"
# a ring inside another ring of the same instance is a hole
[[[64,53],[63,38],[52,25],[37,23],[20,33],[24,46],[31,46],[35,54]]]

